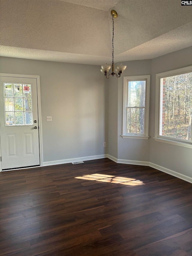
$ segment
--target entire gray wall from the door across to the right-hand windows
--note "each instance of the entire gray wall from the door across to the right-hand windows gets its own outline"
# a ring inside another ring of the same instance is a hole
[[[40,75],[44,162],[108,153],[192,176],[192,149],[153,139],[155,75],[192,65],[191,56],[188,47],[152,60],[123,62],[127,69],[119,79],[106,79],[94,65],[6,57],[0,57],[0,72]],[[123,77],[149,74],[150,138],[123,139]],[[46,122],[46,116],[52,116],[52,122]]]

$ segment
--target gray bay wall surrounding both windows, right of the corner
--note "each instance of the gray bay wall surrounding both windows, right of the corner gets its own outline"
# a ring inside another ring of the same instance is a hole
[[[192,149],[157,142],[155,137],[155,87],[156,74],[192,65],[192,47],[160,56],[152,60],[122,62],[127,65],[123,76],[109,79],[109,146],[110,155],[124,160],[149,161],[178,173],[192,177]],[[116,63],[118,65],[120,63]],[[123,77],[151,75],[149,140],[123,139]],[[118,126],[118,128],[117,128]],[[117,145],[117,146],[116,146]]]

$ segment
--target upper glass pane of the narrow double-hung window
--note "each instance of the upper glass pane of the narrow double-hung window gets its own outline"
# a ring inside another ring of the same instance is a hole
[[[146,81],[128,82],[128,107],[145,107]]]

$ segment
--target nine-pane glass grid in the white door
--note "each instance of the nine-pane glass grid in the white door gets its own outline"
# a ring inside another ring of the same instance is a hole
[[[31,84],[3,83],[5,124],[32,125]]]

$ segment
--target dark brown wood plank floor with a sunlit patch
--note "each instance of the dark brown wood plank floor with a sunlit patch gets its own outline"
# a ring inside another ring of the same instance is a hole
[[[2,172],[0,255],[191,256],[191,192],[107,158]]]

